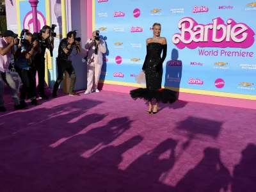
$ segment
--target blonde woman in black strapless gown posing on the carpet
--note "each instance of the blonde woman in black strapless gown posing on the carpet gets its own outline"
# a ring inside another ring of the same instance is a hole
[[[166,58],[167,42],[166,38],[160,37],[161,24],[153,25],[154,36],[147,39],[147,55],[142,67],[145,72],[147,88],[131,90],[130,95],[133,99],[148,100],[149,108],[147,114],[156,114],[158,103],[172,104],[177,100],[176,92],[162,88],[163,62]],[[161,53],[163,51],[163,56]],[[156,100],[153,106],[152,100]]]

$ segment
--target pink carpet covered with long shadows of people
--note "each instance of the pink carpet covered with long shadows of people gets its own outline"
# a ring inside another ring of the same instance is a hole
[[[256,113],[125,93],[0,113],[1,192],[255,192]],[[42,102],[42,100],[40,100]]]

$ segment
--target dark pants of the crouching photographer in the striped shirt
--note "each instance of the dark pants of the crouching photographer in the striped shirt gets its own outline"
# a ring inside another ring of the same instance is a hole
[[[58,67],[58,78],[54,84],[52,95],[57,94],[57,90],[60,86],[61,81],[63,80],[63,74],[65,71],[67,71],[67,73],[68,73],[68,75],[70,75],[70,79],[71,79],[69,93],[73,93],[75,84],[76,84],[76,72],[72,65],[72,61],[65,61],[65,60],[57,59],[57,67]]]

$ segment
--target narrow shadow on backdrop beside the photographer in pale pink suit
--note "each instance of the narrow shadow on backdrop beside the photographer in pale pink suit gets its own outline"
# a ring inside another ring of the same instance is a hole
[[[109,56],[109,49],[108,49],[108,37],[107,36],[102,36],[100,35],[100,38],[102,40],[104,40],[105,44],[106,44],[106,52],[102,54],[102,60],[103,60],[103,65],[101,68],[101,74],[100,74],[100,83],[99,83],[99,90],[102,90],[103,86],[104,86],[104,81],[106,76],[108,75],[108,57]]]

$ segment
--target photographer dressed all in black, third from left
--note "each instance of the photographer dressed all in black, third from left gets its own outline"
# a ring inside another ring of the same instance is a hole
[[[50,36],[50,26],[44,26],[40,31],[42,32],[42,43],[39,45],[41,52],[36,54],[34,62],[38,72],[38,90],[40,99],[49,99],[44,93],[44,79],[45,79],[45,50],[54,49],[54,37]]]

